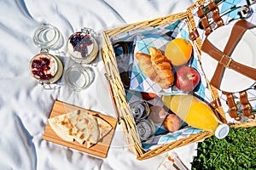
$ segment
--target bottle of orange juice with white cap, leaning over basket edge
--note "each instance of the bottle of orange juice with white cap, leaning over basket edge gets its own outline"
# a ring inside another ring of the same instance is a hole
[[[224,139],[230,132],[230,127],[218,121],[209,105],[191,94],[164,95],[162,101],[190,126],[215,133],[218,139]]]

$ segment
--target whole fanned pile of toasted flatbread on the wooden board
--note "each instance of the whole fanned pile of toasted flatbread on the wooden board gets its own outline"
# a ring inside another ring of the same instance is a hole
[[[49,118],[49,125],[61,139],[68,142],[75,140],[87,148],[96,144],[112,129],[102,118],[80,110]]]

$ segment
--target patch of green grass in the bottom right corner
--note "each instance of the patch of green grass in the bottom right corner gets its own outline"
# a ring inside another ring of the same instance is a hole
[[[231,128],[225,139],[205,139],[192,169],[256,169],[256,127]]]

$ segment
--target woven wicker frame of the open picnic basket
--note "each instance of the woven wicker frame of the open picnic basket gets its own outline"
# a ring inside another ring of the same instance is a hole
[[[178,139],[169,144],[161,145],[160,147],[154,148],[154,150],[148,150],[147,152],[143,150],[140,140],[137,136],[137,130],[135,127],[135,123],[133,121],[133,117],[131,116],[131,111],[129,105],[127,103],[124,86],[119,76],[118,65],[115,59],[115,53],[113,51],[113,44],[111,42],[111,38],[118,35],[119,33],[134,31],[137,29],[141,29],[145,26],[161,26],[169,22],[173,22],[176,20],[185,20],[188,31],[193,32],[196,29],[196,24],[194,20],[194,14],[192,10],[194,8],[198,8],[201,4],[206,3],[201,0],[193,4],[188,10],[184,13],[179,14],[171,14],[165,17],[161,17],[155,20],[147,20],[143,22],[138,22],[126,26],[120,26],[118,28],[102,31],[102,59],[106,69],[106,77],[109,82],[109,88],[113,98],[113,105],[115,105],[115,110],[117,113],[117,118],[119,123],[122,125],[127,143],[130,146],[130,149],[137,155],[138,160],[148,159],[150,157],[158,156],[168,150],[175,149],[177,147],[191,144],[197,141],[201,141],[202,139],[206,139],[212,136],[213,133],[210,132],[201,132],[190,135],[185,139]],[[195,53],[197,53],[200,57],[201,54],[201,37],[196,37],[193,40],[193,44],[195,47]],[[208,84],[208,87],[211,89],[212,101],[218,101],[218,90]],[[214,102],[213,102],[214,103]],[[221,105],[215,105],[215,114],[221,122],[226,123],[224,110]],[[232,124],[230,126],[233,127],[252,127],[256,126],[256,122],[243,122],[238,124]]]

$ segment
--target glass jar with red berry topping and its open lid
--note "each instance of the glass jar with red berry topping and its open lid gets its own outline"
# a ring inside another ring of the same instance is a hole
[[[62,76],[63,65],[61,59],[49,54],[49,48],[61,47],[63,44],[61,32],[55,26],[44,24],[34,32],[33,42],[41,48],[41,51],[30,60],[29,70],[32,77],[42,85],[57,82]]]

